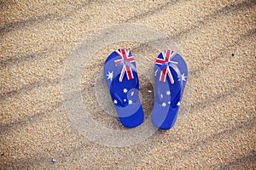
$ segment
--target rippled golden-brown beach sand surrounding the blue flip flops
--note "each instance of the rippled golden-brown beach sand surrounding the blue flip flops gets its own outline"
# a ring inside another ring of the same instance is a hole
[[[0,169],[255,169],[255,18],[253,0],[1,1]],[[117,36],[127,32],[130,40]],[[150,122],[155,43],[189,67],[168,131]],[[120,125],[104,84],[104,60],[117,48],[138,63],[145,122],[135,129]],[[73,57],[80,83],[66,86]],[[71,101],[81,110],[69,111]]]

